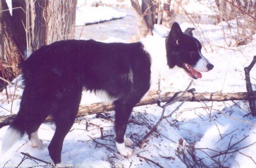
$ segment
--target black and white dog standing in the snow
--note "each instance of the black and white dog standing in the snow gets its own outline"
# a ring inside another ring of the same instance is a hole
[[[168,69],[180,67],[197,79],[202,77],[200,72],[213,68],[201,54],[201,43],[183,33],[176,22],[161,46],[159,53],[164,54],[159,58],[164,59],[160,64]],[[32,147],[41,147],[38,128],[51,115],[56,130],[48,150],[53,162],[60,163],[63,141],[75,121],[81,92],[85,88],[95,93],[107,93],[113,100],[116,148],[121,155],[131,156],[133,151],[126,146],[133,142],[125,136],[128,119],[135,104],[149,90],[154,76],[152,67],[160,60],[151,57],[151,49],[143,42],[67,40],[42,46],[33,52],[20,65],[25,88],[20,110],[3,137],[2,153],[24,133],[28,134]]]

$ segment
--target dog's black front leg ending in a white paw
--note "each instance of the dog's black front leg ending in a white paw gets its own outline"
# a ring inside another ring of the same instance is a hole
[[[126,145],[128,146],[131,143],[128,143],[128,139],[125,137],[125,130],[133,107],[133,104],[123,104],[120,101],[115,101],[116,148],[119,153],[125,157],[129,157],[133,154],[133,151],[130,148],[125,147]],[[127,140],[126,144],[124,140]]]

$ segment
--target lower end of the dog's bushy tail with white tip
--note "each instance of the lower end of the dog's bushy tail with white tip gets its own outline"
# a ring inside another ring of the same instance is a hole
[[[2,154],[6,153],[9,148],[12,147],[12,145],[17,142],[18,139],[21,139],[25,133],[25,127],[24,124],[20,124],[22,121],[22,118],[18,114],[10,127],[7,129],[5,135],[3,136],[2,141]]]

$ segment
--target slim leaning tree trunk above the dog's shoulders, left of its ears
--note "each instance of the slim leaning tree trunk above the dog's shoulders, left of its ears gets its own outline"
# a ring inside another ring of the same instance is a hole
[[[140,4],[138,0],[131,0],[131,5],[133,6],[136,17],[137,17],[137,24],[140,30],[140,36],[145,37],[148,34],[151,34],[151,29],[148,27],[148,24],[143,17],[142,9],[140,8]]]

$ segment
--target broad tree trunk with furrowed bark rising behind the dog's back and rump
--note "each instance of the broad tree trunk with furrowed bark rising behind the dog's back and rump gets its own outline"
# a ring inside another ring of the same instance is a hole
[[[29,0],[32,51],[74,38],[76,3],[77,0]]]

